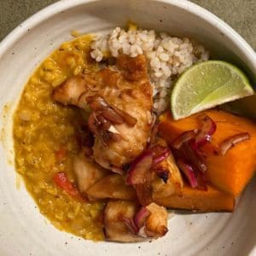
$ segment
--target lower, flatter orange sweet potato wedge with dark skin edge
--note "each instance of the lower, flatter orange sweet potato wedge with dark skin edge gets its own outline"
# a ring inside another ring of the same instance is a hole
[[[235,197],[212,186],[207,191],[192,189],[189,185],[183,187],[183,195],[171,195],[154,201],[172,209],[195,210],[199,212],[233,212]]]

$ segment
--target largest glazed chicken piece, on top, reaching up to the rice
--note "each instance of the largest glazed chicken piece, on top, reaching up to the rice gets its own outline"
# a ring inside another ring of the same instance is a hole
[[[88,108],[89,98],[91,100],[93,97],[102,96],[113,107],[112,110],[118,108],[137,120],[134,125],[125,121],[110,126],[107,123],[108,133],[104,133],[104,139],[108,139],[107,145],[102,140],[102,133],[93,131],[96,137],[93,147],[94,159],[99,165],[113,172],[119,172],[125,164],[143,152],[153,119],[152,88],[148,80],[145,56],[131,58],[120,55],[117,66],[119,70],[104,68],[96,73],[67,79],[53,91],[53,98],[57,102],[84,109]],[[99,121],[95,113],[93,114],[90,120]],[[109,112],[107,114],[109,115]],[[110,136],[113,133],[115,136]]]

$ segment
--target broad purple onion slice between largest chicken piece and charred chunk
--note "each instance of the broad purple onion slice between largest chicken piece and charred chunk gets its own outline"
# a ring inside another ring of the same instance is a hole
[[[146,182],[147,172],[153,162],[153,155],[145,151],[131,164],[126,176],[127,185],[143,184]]]

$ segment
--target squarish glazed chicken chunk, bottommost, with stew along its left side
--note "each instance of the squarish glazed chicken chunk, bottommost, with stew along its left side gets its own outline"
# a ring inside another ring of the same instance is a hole
[[[106,239],[110,241],[144,241],[125,225],[124,218],[133,218],[138,210],[137,204],[131,201],[108,201],[104,210],[104,227]]]

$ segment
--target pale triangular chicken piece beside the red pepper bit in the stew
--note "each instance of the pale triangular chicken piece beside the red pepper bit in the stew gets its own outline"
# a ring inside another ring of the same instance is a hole
[[[82,195],[85,195],[87,189],[90,189],[93,184],[109,173],[108,170],[104,170],[102,166],[85,157],[84,154],[75,157],[73,168]]]

